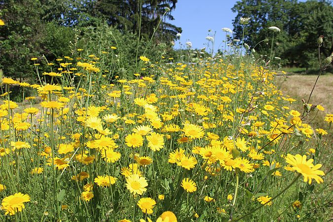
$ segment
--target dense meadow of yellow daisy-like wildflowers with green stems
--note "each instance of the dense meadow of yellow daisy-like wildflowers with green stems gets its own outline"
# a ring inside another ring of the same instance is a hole
[[[1,74],[0,221],[329,220],[333,114],[313,127],[325,105],[312,92],[294,110],[271,60],[227,47],[142,53],[134,78],[112,70],[118,45],[31,58],[37,83]]]

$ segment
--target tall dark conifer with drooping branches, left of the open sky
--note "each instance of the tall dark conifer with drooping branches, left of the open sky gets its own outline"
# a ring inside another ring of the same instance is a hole
[[[165,18],[174,19],[171,11],[176,3],[177,0],[97,0],[94,13],[120,30],[136,34],[140,30],[141,35],[148,39],[152,37],[164,13]],[[165,22],[165,18],[155,32],[155,39],[170,42],[182,29]]]

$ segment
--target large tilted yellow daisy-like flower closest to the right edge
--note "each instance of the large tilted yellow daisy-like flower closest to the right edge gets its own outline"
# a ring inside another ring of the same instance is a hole
[[[312,179],[315,179],[318,184],[323,183],[323,179],[319,177],[325,175],[323,171],[319,170],[322,167],[321,164],[313,165],[313,159],[306,160],[306,155],[287,154],[286,162],[293,166],[293,169],[304,177],[304,182],[309,181],[311,184]]]

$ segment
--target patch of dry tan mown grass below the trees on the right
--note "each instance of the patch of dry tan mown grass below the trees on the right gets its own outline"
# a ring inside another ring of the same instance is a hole
[[[303,111],[301,99],[308,100],[313,84],[316,81],[316,75],[279,75],[276,76],[280,90],[296,99],[292,104],[292,109]],[[310,104],[321,105],[325,111],[319,111],[317,117],[313,120],[315,127],[326,128],[327,122],[324,122],[324,116],[327,113],[333,113],[333,74],[321,75],[316,88],[314,89]]]

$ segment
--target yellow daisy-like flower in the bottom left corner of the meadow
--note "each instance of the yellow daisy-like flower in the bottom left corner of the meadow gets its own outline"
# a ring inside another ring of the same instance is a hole
[[[23,193],[15,193],[14,195],[7,196],[2,199],[2,210],[5,211],[5,215],[14,215],[17,212],[21,212],[25,208],[24,203],[30,202],[30,196]]]

